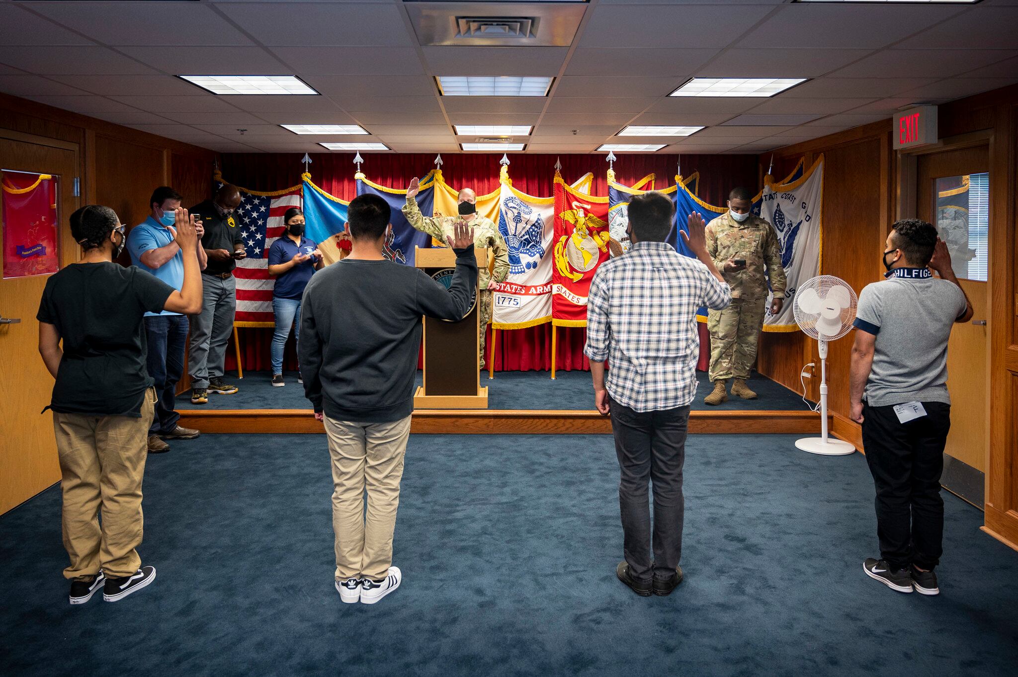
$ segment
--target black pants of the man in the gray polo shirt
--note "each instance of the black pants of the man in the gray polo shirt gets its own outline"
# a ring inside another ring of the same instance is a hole
[[[926,416],[899,423],[894,407],[862,408],[862,443],[876,487],[881,558],[892,568],[932,569],[944,540],[944,444],[951,406],[924,402]]]

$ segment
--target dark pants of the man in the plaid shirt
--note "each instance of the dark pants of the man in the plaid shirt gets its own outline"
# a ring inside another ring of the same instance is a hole
[[[614,399],[610,405],[621,471],[619,507],[629,572],[639,580],[671,578],[682,556],[682,464],[689,408],[640,413]],[[654,485],[653,562],[648,481]]]

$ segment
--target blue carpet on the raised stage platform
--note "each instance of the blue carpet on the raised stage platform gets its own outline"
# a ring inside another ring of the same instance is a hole
[[[228,375],[233,376],[233,375]],[[548,371],[500,371],[489,379],[488,372],[482,374],[480,385],[488,386],[488,409],[509,410],[593,410],[593,390],[590,386],[590,372],[559,371],[551,379]],[[697,373],[696,398],[693,409],[728,411],[805,411],[802,397],[766,376],[753,374],[748,383],[759,395],[756,399],[729,397],[718,407],[703,404],[703,397],[713,390],[706,374]],[[310,409],[304,397],[304,386],[297,383],[297,373],[284,374],[286,385],[272,386],[272,375],[266,371],[244,372],[242,379],[227,378],[240,390],[231,395],[210,392],[208,405],[191,405],[189,393],[177,399],[177,409]],[[416,384],[420,385],[421,375],[417,372]]]

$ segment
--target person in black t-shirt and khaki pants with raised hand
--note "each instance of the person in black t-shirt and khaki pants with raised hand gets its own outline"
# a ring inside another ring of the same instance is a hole
[[[156,403],[144,316],[202,308],[194,221],[185,209],[175,217],[184,264],[180,291],[138,267],[114,263],[126,242],[123,226],[113,209],[90,204],[70,217],[81,260],[46,282],[39,304],[39,352],[56,379],[48,409],[62,475],[71,604],[88,602],[100,586],[104,599],[116,602],[156,577],[155,567],[140,566],[135,550]]]

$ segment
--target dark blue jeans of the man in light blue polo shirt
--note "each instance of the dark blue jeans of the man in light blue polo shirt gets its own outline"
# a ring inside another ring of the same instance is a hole
[[[155,315],[145,318],[145,337],[149,344],[149,375],[156,381],[156,415],[149,434],[170,432],[177,427],[180,415],[176,407],[177,382],[184,373],[184,346],[187,345],[186,315]]]

